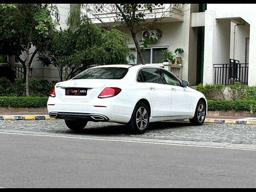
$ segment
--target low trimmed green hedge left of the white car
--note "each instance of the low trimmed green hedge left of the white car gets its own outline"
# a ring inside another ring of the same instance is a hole
[[[48,97],[0,97],[1,107],[47,107]]]

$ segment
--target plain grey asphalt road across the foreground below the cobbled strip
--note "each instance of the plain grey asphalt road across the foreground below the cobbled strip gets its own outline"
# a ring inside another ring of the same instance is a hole
[[[0,187],[256,187],[256,151],[0,133]]]

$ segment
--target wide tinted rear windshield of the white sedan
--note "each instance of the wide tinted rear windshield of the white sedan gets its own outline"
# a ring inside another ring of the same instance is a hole
[[[91,68],[78,74],[73,79],[122,79],[127,72],[128,68],[123,67]]]

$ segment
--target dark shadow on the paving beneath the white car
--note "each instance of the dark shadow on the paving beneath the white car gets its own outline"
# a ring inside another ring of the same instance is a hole
[[[171,129],[171,128],[187,128],[191,126],[189,122],[154,122],[150,123],[146,133],[150,133],[155,130],[161,129]],[[77,132],[70,130],[69,133],[80,133],[80,134],[111,134],[111,135],[132,135],[131,131],[126,125],[116,124],[116,125],[104,125],[104,126],[94,126],[92,128],[85,128],[84,130]]]

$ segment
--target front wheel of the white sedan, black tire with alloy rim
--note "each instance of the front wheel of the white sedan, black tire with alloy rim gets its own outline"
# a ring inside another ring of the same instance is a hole
[[[195,111],[194,117],[192,119],[189,119],[189,121],[192,125],[198,126],[204,123],[205,117],[206,117],[206,106],[205,106],[205,103],[200,100],[196,105],[196,111]]]

